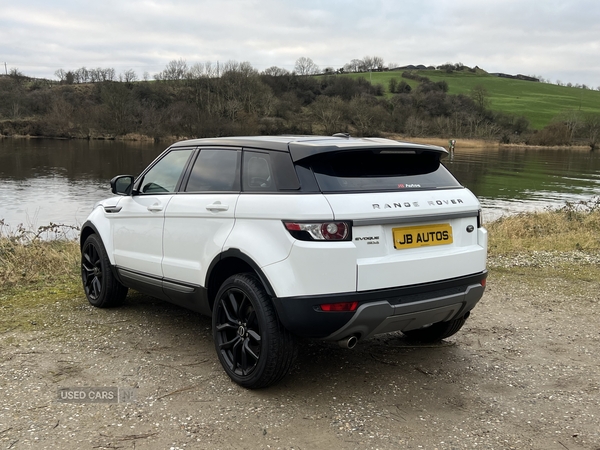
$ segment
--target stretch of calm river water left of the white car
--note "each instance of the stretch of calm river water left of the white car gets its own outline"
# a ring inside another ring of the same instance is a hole
[[[0,219],[16,227],[81,225],[108,180],[141,172],[165,144],[0,139]]]

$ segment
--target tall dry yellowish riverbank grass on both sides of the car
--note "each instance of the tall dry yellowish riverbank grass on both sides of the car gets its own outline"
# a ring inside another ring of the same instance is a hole
[[[560,209],[524,213],[486,224],[489,253],[600,250],[600,198],[567,203]],[[71,227],[51,224],[38,230],[8,230],[0,220],[0,292],[74,285],[79,281],[79,245],[65,238]]]

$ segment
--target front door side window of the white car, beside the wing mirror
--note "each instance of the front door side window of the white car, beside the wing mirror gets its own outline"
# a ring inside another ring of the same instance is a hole
[[[193,149],[173,150],[158,161],[142,179],[139,190],[142,194],[165,194],[175,192],[181,174]]]

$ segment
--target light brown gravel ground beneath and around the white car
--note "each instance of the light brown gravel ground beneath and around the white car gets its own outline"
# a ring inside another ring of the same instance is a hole
[[[0,448],[599,450],[600,282],[497,270],[549,261],[491,259],[483,300],[441,344],[303,341],[292,372],[258,391],[222,371],[210,320],[176,306],[4,300]],[[135,400],[58,401],[82,387]]]

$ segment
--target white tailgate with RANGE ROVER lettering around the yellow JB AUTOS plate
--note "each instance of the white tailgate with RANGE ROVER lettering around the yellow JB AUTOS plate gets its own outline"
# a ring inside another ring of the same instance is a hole
[[[479,202],[467,189],[326,197],[336,220],[354,221],[358,291],[440,281],[485,270],[487,233],[477,228]],[[399,248],[394,246],[394,229],[398,229]]]

